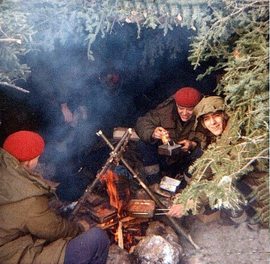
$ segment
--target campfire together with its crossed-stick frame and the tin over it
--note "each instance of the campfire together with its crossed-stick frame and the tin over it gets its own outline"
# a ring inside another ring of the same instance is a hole
[[[97,134],[110,146],[112,152],[102,169],[97,173],[96,179],[87,187],[83,196],[78,200],[69,218],[71,220],[74,218],[84,219],[92,226],[100,226],[108,234],[111,234],[113,242],[118,243],[119,247],[132,252],[136,243],[144,237],[145,230],[151,222],[149,219],[154,216],[155,206],[157,206],[156,210],[160,210],[158,214],[165,214],[165,216],[167,216],[168,209],[122,157],[131,135],[131,129],[125,132],[116,147],[109,142],[102,132]],[[130,199],[128,178],[117,175],[113,171],[120,160],[153,200],[138,201]],[[106,191],[102,192],[102,194],[104,192],[108,194],[106,199],[101,195],[93,194],[98,181],[106,183]],[[167,216],[167,220],[178,234],[183,235],[195,248],[198,248],[191,236],[172,217]]]

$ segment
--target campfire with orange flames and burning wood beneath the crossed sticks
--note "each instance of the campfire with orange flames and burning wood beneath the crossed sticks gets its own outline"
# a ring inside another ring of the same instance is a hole
[[[134,214],[135,210],[140,211],[140,207],[134,202],[130,203],[138,200],[130,199],[129,182],[124,176],[107,170],[100,180],[106,183],[108,195],[104,197],[104,192],[103,196],[89,193],[77,211],[76,218],[85,220],[91,226],[101,227],[108,233],[112,244],[132,252],[138,241],[145,236],[149,225],[148,215],[146,218],[145,215]],[[154,201],[150,202],[151,208],[154,208]]]

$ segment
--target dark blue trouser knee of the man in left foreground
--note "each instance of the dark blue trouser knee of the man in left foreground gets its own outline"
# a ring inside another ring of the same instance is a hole
[[[99,227],[93,227],[71,239],[64,264],[106,264],[110,240]]]

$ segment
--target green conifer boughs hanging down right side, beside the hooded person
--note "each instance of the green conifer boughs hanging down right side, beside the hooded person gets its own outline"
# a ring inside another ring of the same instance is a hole
[[[207,197],[212,208],[238,210],[247,198],[236,189],[236,182],[248,178],[250,171],[264,171],[251,184],[251,197],[258,202],[255,218],[269,223],[269,1],[209,4],[209,30],[194,38],[189,59],[194,67],[208,58],[217,59],[205,74],[224,71],[216,93],[225,97],[230,128],[190,168],[191,184],[175,203],[183,203],[185,213],[189,209],[197,213]],[[212,171],[211,181],[203,179],[207,170]],[[190,199],[195,202],[192,206]]]

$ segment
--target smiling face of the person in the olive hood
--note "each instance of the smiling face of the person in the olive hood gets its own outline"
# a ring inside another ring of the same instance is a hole
[[[205,127],[214,135],[221,135],[224,131],[226,120],[223,113],[207,113],[202,119]]]

